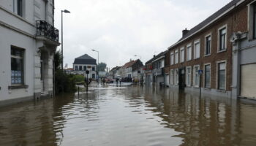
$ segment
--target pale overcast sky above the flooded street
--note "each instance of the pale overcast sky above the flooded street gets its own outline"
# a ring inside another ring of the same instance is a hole
[[[55,25],[64,14],[64,64],[72,67],[83,54],[108,67],[140,55],[143,63],[167,50],[192,28],[230,0],[56,0]],[[61,35],[60,35],[61,38]],[[61,41],[61,39],[60,39]],[[60,48],[60,47],[59,47]]]

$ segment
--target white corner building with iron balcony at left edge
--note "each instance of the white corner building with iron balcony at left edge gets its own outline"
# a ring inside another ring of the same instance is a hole
[[[54,0],[0,1],[0,104],[53,95]]]

